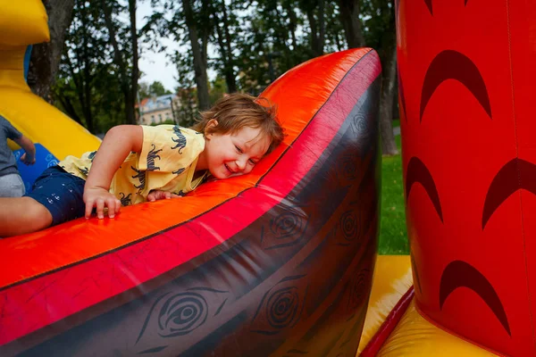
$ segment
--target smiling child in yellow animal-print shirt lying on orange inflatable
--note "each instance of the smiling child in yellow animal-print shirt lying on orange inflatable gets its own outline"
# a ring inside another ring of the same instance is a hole
[[[283,139],[272,106],[249,95],[223,97],[194,129],[121,125],[97,152],[68,156],[46,169],[31,194],[0,199],[0,237],[67,220],[113,218],[126,206],[185,195],[207,174],[227,179],[250,172]],[[197,131],[196,131],[197,130]]]

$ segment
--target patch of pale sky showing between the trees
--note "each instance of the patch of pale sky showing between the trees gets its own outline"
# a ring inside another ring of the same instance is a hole
[[[138,2],[138,11],[136,13],[137,28],[141,29],[147,22],[144,18],[152,13],[150,2]],[[179,46],[170,39],[163,39],[163,45],[168,47],[169,53],[172,53]],[[139,42],[140,46],[141,41]],[[175,79],[177,77],[177,70],[172,65],[171,61],[166,58],[165,53],[155,53],[144,49],[141,53],[139,62],[139,70],[143,75],[140,82],[147,82],[148,84],[158,80],[163,84],[163,87],[173,91],[177,87],[178,82]]]

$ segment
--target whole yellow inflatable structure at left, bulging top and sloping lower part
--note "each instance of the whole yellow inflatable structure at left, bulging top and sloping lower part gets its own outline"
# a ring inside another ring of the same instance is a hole
[[[34,95],[24,79],[27,46],[49,40],[41,0],[0,0],[0,115],[58,160],[96,150],[100,140]],[[18,148],[10,142],[12,149]]]

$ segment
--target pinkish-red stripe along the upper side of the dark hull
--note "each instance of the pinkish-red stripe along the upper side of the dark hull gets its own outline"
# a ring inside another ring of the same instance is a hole
[[[261,217],[297,186],[380,74],[374,55],[350,71],[258,187],[195,220],[94,260],[0,292],[0,345],[119,295],[195,258]],[[281,179],[284,178],[284,179]],[[247,209],[244,203],[248,204]],[[230,215],[234,212],[234,215]],[[214,232],[218,227],[218,232]]]

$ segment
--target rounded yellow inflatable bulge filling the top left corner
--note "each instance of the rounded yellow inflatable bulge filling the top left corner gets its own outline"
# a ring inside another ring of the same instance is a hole
[[[0,48],[48,42],[48,16],[41,0],[0,0]]]

